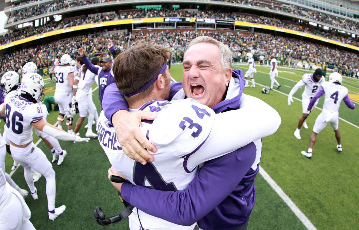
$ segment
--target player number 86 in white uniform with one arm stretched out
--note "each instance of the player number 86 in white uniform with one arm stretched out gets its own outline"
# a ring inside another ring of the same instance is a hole
[[[66,133],[42,119],[42,108],[38,102],[42,101],[43,88],[44,83],[39,74],[23,75],[21,88],[6,95],[0,107],[0,114],[6,114],[5,129],[10,140],[11,155],[24,167],[25,180],[34,199],[38,197],[31,170],[34,169],[45,176],[48,217],[55,220],[65,211],[65,206],[55,208],[55,171],[45,154],[32,142],[32,128],[35,127],[62,141],[82,142],[89,139]]]

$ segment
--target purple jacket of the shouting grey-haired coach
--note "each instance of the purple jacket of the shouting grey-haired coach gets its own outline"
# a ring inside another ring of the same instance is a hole
[[[239,107],[244,88],[243,72],[233,69],[232,76],[241,80],[241,93],[214,106],[216,113]],[[172,83],[170,98],[181,88],[181,83]],[[106,89],[103,110],[109,120],[117,110],[128,107],[123,97],[117,101],[120,95],[116,86]],[[185,191],[160,191],[124,183],[122,197],[142,211],[176,224],[189,226],[197,221],[199,227],[206,230],[236,229],[248,220],[254,206],[254,179],[259,167],[253,170],[251,166],[256,151],[252,142],[205,162]]]

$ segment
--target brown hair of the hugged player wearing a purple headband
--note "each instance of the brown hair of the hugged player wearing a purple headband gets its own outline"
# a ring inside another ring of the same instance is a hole
[[[154,46],[148,42],[140,42],[130,49],[123,51],[113,60],[112,71],[117,88],[122,94],[137,91],[149,83],[167,62],[171,52],[164,47]],[[149,95],[153,84],[144,91],[130,97],[127,102]]]

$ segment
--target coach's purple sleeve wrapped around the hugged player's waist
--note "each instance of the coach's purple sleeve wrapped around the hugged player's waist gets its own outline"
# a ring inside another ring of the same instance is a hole
[[[236,189],[251,169],[256,157],[255,148],[252,142],[206,162],[185,191],[160,191],[124,183],[121,187],[122,198],[150,215],[190,226]],[[223,220],[218,218],[218,221]]]

